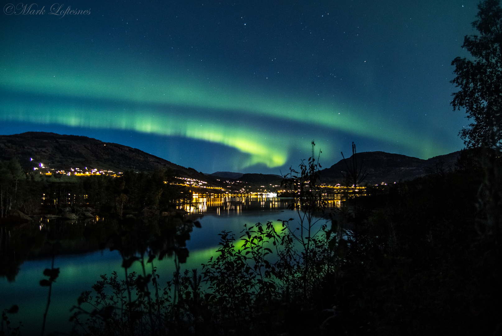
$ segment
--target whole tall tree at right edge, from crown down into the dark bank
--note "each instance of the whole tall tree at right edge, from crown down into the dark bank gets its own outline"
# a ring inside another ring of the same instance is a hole
[[[474,123],[460,132],[467,147],[481,147],[478,158],[484,178],[478,189],[478,230],[491,240],[502,265],[502,9],[499,0],[478,5],[472,26],[479,36],[465,36],[463,48],[473,60],[453,60],[451,82],[460,87],[453,93],[453,108],[464,107]],[[490,243],[490,244],[491,244]]]

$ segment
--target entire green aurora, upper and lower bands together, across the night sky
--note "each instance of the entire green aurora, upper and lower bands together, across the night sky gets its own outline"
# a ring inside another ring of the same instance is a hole
[[[249,160],[241,163],[241,167],[257,163],[268,167],[282,166],[292,146],[306,150],[309,144],[306,141],[308,138],[301,135],[274,130],[274,134],[279,133],[280,136],[271,136],[271,129],[253,129],[249,125],[232,123],[231,116],[235,114],[254,116],[258,120],[260,117],[275,118],[306,124],[310,128],[317,126],[399,143],[426,158],[444,154],[443,149],[425,137],[389,127],[364,113],[356,114],[346,108],[336,107],[333,102],[289,98],[278,91],[264,91],[263,87],[256,89],[250,84],[244,87],[242,84],[233,85],[230,80],[209,80],[207,75],[193,75],[193,71],[188,70],[185,75],[181,74],[179,67],[177,71],[166,71],[166,67],[154,69],[148,64],[141,65],[139,67],[139,62],[136,62],[133,67],[132,63],[117,61],[113,67],[94,66],[92,71],[78,72],[68,70],[78,66],[47,66],[36,59],[23,63],[8,61],[0,70],[1,90],[58,96],[66,100],[111,100],[130,108],[37,105],[28,101],[2,99],[0,120],[132,130],[209,141],[249,154]],[[152,105],[160,107],[154,108]],[[205,109],[207,113],[197,114],[194,118],[179,113],[176,106]],[[319,134],[315,135],[321,148],[329,147],[326,138],[320,137]]]

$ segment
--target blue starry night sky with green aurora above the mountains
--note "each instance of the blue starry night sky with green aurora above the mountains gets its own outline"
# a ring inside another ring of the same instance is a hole
[[[312,140],[324,167],[352,142],[463,147],[450,64],[477,1],[37,1],[2,3],[0,134],[84,135],[205,173],[286,172]]]

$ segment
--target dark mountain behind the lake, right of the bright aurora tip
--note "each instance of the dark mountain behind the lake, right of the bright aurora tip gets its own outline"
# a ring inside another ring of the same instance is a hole
[[[357,153],[356,157],[358,163],[362,163],[362,171],[368,173],[363,183],[392,183],[401,179],[412,180],[434,171],[437,167],[454,169],[459,154],[460,151],[428,160],[386,152],[362,152]],[[319,174],[323,182],[342,183],[342,172],[346,170],[345,163],[340,160],[331,167],[321,170]]]

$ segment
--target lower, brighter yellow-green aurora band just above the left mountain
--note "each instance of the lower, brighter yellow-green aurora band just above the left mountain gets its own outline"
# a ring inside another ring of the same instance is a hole
[[[288,141],[245,126],[229,127],[216,121],[187,118],[183,114],[156,110],[117,110],[81,106],[34,106],[3,101],[0,120],[35,124],[59,124],[81,128],[132,130],[165,136],[183,136],[223,144],[250,155],[242,167],[264,163],[282,166],[287,160]]]

